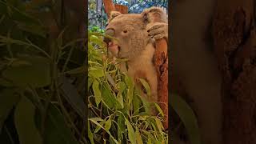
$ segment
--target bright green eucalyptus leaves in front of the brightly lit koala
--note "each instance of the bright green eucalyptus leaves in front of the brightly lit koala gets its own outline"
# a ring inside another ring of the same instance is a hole
[[[102,34],[90,33],[88,48],[90,142],[167,143],[158,104],[142,98],[133,80],[118,70],[118,63],[125,60],[115,63],[106,58]],[[141,81],[150,94],[146,81]],[[158,116],[150,114],[150,106]]]

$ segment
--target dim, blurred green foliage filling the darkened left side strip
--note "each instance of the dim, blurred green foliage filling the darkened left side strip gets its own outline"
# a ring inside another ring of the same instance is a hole
[[[86,143],[84,40],[63,11],[0,0],[1,143]]]

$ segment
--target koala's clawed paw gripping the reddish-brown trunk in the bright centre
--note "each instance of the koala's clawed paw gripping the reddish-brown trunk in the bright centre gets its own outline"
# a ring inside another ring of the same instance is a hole
[[[155,40],[166,38],[168,39],[168,24],[164,22],[156,22],[147,30],[148,35]]]

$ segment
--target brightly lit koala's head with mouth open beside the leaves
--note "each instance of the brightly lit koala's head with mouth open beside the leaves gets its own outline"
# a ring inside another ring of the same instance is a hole
[[[117,58],[137,57],[150,42],[146,26],[155,19],[152,15],[157,19],[162,19],[164,13],[155,7],[144,10],[142,14],[111,12],[109,23],[106,26],[106,35],[114,38],[104,38],[111,54]]]

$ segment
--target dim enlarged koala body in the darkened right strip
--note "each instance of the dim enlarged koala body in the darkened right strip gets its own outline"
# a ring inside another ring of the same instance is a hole
[[[216,0],[177,0],[172,4],[170,73],[186,90],[198,117],[202,144],[222,144],[222,78],[210,38]]]

